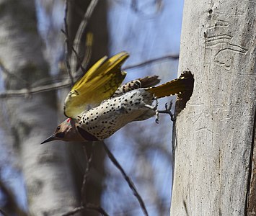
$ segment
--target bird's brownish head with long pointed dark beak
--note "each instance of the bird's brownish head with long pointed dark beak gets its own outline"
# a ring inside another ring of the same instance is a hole
[[[48,143],[53,140],[84,141],[76,130],[76,122],[71,118],[66,119],[58,125],[53,135],[44,140],[43,143]]]

